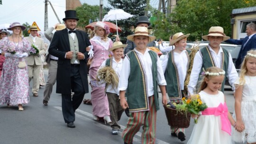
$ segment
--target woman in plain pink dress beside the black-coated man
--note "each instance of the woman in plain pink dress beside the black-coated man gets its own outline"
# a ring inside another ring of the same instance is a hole
[[[98,21],[94,26],[95,36],[90,39],[91,50],[89,52],[92,62],[90,66],[89,76],[91,79],[91,103],[92,115],[94,120],[99,120],[99,117],[104,117],[107,123],[111,123],[110,109],[108,97],[105,93],[105,83],[96,81],[97,71],[106,59],[109,58],[109,48],[112,47],[113,42],[108,38],[110,33],[109,26]]]

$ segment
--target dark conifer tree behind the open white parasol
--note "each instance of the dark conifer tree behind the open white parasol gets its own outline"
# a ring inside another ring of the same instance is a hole
[[[122,43],[126,43],[126,37],[133,34],[130,28],[132,26],[136,27],[137,18],[145,14],[146,0],[109,0],[109,3],[114,9],[123,9],[125,12],[134,15],[132,18],[118,20],[118,26],[122,28],[119,37]],[[112,8],[107,8],[107,11],[110,9]],[[115,23],[115,21],[112,22]],[[113,36],[113,34],[110,36]]]

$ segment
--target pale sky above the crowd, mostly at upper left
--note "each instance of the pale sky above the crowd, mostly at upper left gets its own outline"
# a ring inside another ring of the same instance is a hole
[[[56,14],[62,22],[65,17],[65,0],[49,0]],[[81,3],[89,5],[100,5],[100,0],[80,0]],[[151,5],[158,6],[158,0],[150,0]],[[110,7],[108,0],[103,0],[103,7]],[[20,24],[28,23],[32,25],[35,21],[37,26],[43,31],[45,20],[45,0],[2,0],[0,5],[0,25],[11,24],[19,22]],[[58,23],[53,9],[48,4],[48,27],[54,26]]]

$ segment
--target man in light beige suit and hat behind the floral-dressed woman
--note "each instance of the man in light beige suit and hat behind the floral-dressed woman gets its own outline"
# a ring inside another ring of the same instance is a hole
[[[30,26],[30,36],[25,37],[31,45],[35,45],[39,50],[39,53],[37,55],[29,54],[29,56],[26,57],[29,82],[33,78],[32,93],[34,97],[38,97],[37,92],[40,86],[40,68],[43,64],[41,60],[41,55],[46,53],[44,40],[40,37],[37,37],[38,30],[39,29],[37,28],[37,26]]]

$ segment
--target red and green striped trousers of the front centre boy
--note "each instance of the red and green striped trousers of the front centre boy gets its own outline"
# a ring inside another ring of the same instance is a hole
[[[131,144],[134,135],[143,126],[141,144],[155,144],[156,110],[154,96],[148,97],[149,111],[131,112],[127,126],[122,133],[124,142]]]

